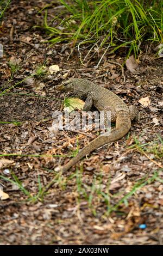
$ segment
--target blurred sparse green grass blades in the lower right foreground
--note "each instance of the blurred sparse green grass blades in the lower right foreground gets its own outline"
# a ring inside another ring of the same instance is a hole
[[[134,196],[136,191],[140,191],[142,187],[153,183],[154,181],[163,182],[161,178],[159,178],[159,171],[154,171],[152,177],[149,178],[148,175],[143,176],[140,180],[136,181],[131,188],[131,191],[126,193],[125,191],[121,191],[115,194],[111,194],[109,192],[110,180],[108,181],[108,185],[103,188],[102,184],[102,176],[93,176],[92,185],[86,185],[83,182],[83,172],[82,169],[76,170],[76,183],[77,183],[77,192],[78,192],[78,203],[80,204],[82,200],[86,200],[89,208],[92,211],[94,216],[97,215],[98,207],[101,203],[106,205],[105,215],[108,216],[113,211],[117,211],[121,208],[122,205],[128,206],[128,200]],[[117,201],[117,198],[121,198],[117,203],[111,203]]]

